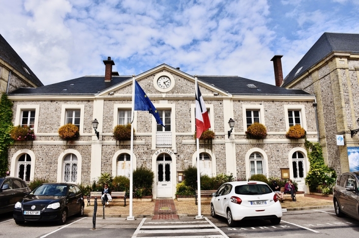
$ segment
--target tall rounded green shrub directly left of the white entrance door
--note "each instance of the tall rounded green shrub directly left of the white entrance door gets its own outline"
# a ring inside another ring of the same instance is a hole
[[[133,171],[133,193],[135,197],[152,195],[154,173],[149,168],[141,166]]]

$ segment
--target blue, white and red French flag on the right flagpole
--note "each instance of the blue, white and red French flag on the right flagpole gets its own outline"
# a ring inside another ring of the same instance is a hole
[[[196,89],[196,135],[200,138],[202,132],[210,128],[209,116],[205,102],[203,101],[200,87],[197,83]]]

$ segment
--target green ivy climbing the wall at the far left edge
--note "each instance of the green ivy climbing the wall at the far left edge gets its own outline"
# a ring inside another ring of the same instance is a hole
[[[8,148],[14,143],[9,133],[13,127],[12,106],[12,102],[3,93],[0,99],[0,176],[6,175],[8,171]]]

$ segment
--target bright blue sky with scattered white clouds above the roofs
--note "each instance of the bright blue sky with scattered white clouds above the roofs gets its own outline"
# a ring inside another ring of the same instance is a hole
[[[2,1],[0,34],[45,84],[120,75],[162,63],[191,75],[237,75],[274,84],[324,32],[359,33],[354,0]],[[5,23],[5,24],[4,24]]]

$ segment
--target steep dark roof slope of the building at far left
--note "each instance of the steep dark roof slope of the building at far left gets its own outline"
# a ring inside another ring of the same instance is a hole
[[[44,84],[36,77],[31,71],[29,66],[21,59],[21,57],[12,49],[7,41],[0,34],[0,58],[7,62],[9,65],[19,71],[25,78],[29,79],[36,86],[40,87]],[[25,71],[23,66],[29,71],[30,75]]]

